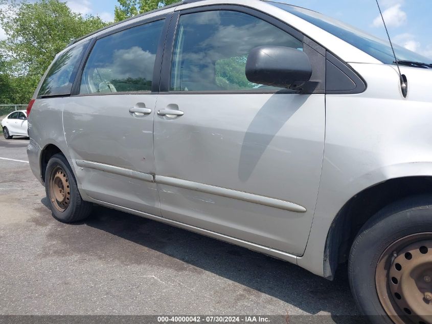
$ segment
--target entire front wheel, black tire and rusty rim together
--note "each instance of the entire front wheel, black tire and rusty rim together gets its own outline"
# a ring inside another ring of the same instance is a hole
[[[432,197],[378,212],[350,253],[354,299],[374,323],[432,323]]]

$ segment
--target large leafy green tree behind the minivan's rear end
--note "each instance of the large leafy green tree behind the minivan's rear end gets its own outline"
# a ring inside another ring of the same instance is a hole
[[[98,16],[74,13],[60,0],[35,3],[0,0],[0,24],[8,36],[2,52],[17,102],[28,102],[55,55],[73,39],[107,24]]]

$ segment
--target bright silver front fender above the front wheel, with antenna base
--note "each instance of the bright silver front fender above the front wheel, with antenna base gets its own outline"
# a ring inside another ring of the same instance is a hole
[[[385,64],[351,64],[368,83],[358,95],[326,96],[326,144],[313,225],[298,264],[323,275],[327,233],[358,192],[383,181],[432,176],[432,71]]]

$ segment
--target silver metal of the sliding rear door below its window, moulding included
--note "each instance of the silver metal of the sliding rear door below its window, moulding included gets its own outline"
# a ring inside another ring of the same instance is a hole
[[[148,94],[89,95],[67,99],[64,135],[76,178],[86,195],[160,215],[154,175],[153,114],[156,96]]]

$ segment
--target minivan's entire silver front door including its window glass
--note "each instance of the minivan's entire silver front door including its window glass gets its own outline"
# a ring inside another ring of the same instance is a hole
[[[301,255],[320,182],[325,95],[249,82],[251,49],[304,49],[240,11],[179,16],[169,89],[158,96],[154,119],[162,215]]]

